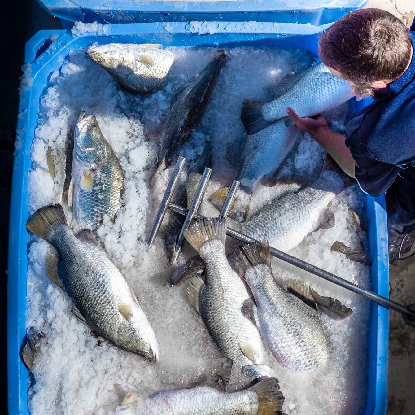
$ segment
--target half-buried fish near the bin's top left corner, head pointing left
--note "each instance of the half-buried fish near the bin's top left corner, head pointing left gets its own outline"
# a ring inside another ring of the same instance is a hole
[[[147,94],[160,88],[174,61],[174,55],[161,48],[151,43],[109,43],[85,53],[128,92]]]

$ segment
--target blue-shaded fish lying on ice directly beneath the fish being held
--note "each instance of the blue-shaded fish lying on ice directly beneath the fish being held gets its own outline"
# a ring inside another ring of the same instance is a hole
[[[245,138],[242,167],[236,178],[241,184],[229,217],[244,222],[257,184],[261,181],[265,186],[275,186],[276,170],[293,148],[298,131],[296,126],[286,127],[282,120],[278,120]],[[221,210],[228,190],[229,186],[220,189],[208,200]]]

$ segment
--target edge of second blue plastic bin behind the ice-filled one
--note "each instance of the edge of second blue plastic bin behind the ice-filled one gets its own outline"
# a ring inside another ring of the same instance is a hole
[[[227,22],[310,23],[335,22],[361,9],[368,0],[38,0],[69,29],[73,22],[149,23],[191,20]]]

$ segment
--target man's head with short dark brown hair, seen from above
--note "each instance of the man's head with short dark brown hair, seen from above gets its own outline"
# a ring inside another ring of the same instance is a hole
[[[356,95],[369,96],[405,72],[412,43],[397,17],[380,9],[361,9],[321,35],[318,53],[334,76],[351,83]]]

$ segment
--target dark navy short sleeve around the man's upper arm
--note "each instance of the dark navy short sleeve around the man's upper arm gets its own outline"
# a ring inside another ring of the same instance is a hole
[[[356,161],[355,176],[360,188],[371,196],[380,196],[391,187],[398,176],[399,168],[393,164],[371,159],[350,149]]]

